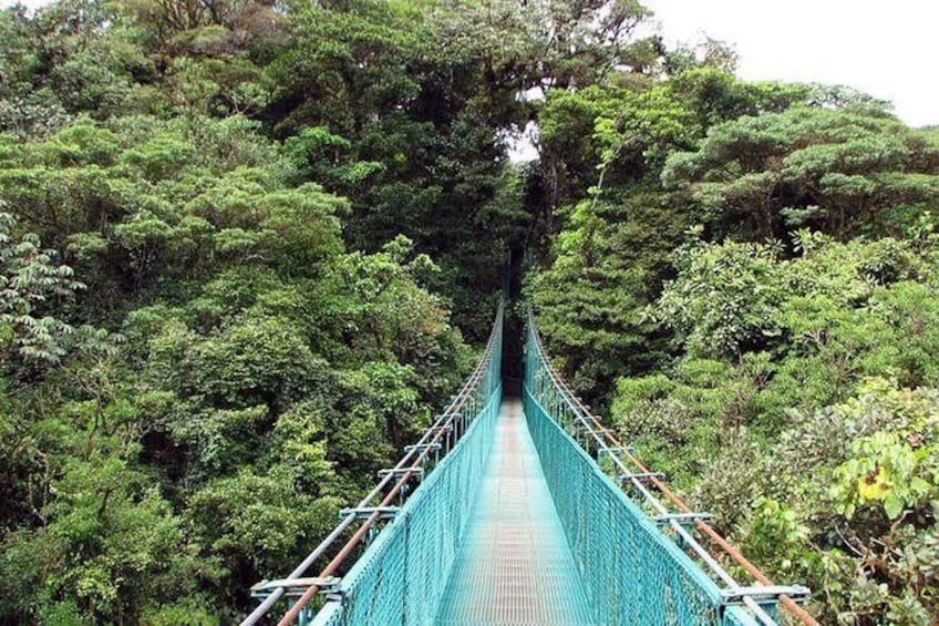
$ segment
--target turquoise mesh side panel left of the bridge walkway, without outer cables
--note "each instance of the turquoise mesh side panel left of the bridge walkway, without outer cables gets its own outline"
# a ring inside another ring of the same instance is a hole
[[[498,353],[488,401],[460,442],[378,534],[313,624],[430,624],[472,513],[502,399]],[[482,402],[479,403],[482,404]]]

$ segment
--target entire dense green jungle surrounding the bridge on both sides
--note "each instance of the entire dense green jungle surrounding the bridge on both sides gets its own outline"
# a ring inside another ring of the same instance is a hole
[[[823,623],[930,624],[939,131],[649,20],[0,11],[0,622],[236,620],[456,389],[508,265],[575,387]]]

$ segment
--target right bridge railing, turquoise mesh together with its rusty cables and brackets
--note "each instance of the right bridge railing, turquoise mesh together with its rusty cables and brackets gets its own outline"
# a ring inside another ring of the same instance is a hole
[[[778,605],[817,624],[808,589],[772,585],[579,400],[530,310],[525,352],[525,414],[598,624],[776,624]]]

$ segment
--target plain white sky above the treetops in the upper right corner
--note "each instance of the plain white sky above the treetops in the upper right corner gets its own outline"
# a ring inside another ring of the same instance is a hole
[[[846,84],[939,124],[937,0],[642,0],[669,43],[734,45],[740,75]]]

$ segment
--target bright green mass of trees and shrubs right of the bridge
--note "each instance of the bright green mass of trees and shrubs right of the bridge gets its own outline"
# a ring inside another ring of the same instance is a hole
[[[935,137],[692,52],[667,82],[548,92],[528,283],[548,349],[819,619],[928,624]]]

